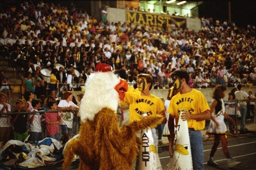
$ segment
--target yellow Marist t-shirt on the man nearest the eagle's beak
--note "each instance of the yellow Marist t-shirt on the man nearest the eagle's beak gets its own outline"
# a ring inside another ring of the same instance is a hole
[[[126,92],[122,104],[129,105],[130,122],[141,120],[143,112],[146,112],[148,116],[154,116],[164,110],[162,100],[153,94],[142,96],[136,92]]]

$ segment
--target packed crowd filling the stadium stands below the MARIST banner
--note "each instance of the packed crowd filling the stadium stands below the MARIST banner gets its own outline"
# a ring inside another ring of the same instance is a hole
[[[255,84],[254,26],[243,29],[204,17],[199,32],[175,24],[164,29],[104,24],[73,4],[62,7],[43,1],[7,5],[0,18],[1,46],[15,70],[19,63],[18,69],[36,71],[35,66],[29,69],[28,61],[41,70],[61,64],[65,72],[78,70],[74,83],[80,83],[101,62],[109,63],[129,82],[138,73],[150,73],[160,88],[169,87],[170,72],[179,69],[190,72],[191,87]]]

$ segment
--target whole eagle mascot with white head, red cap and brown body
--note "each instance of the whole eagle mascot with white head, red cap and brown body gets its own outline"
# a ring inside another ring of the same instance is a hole
[[[110,65],[99,63],[95,70],[85,83],[79,136],[66,144],[62,168],[66,170],[76,155],[80,157],[79,170],[131,169],[142,144],[137,133],[156,127],[163,118],[147,116],[120,128],[116,110],[128,83],[114,74]]]

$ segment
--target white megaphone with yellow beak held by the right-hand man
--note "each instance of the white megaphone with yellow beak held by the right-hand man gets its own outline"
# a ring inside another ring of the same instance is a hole
[[[180,116],[186,110],[180,111]],[[168,164],[168,170],[193,170],[193,162],[189,140],[189,129],[187,121],[179,117],[178,125],[175,131],[173,147]]]

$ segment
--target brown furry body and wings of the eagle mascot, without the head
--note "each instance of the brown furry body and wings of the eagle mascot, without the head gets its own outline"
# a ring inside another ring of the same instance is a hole
[[[144,117],[119,128],[114,111],[104,108],[93,121],[81,124],[80,136],[67,144],[63,169],[70,165],[74,154],[80,156],[79,170],[131,169],[141,144],[137,132],[161,121],[161,116]]]

